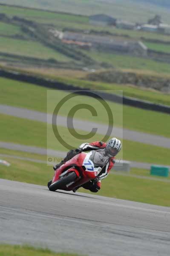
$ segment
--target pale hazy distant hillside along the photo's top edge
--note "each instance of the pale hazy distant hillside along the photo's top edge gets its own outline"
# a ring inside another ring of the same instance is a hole
[[[75,14],[92,15],[106,13],[116,18],[123,18],[133,22],[146,22],[156,14],[162,16],[164,22],[170,23],[168,0],[0,0],[0,3],[27,6],[38,9],[70,12]]]

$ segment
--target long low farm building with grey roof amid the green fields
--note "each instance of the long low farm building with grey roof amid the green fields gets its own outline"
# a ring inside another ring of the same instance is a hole
[[[130,41],[109,36],[103,37],[71,32],[64,32],[62,40],[63,42],[72,41],[75,42],[75,44],[77,44],[77,42],[88,43],[92,48],[102,49],[102,51],[131,53],[140,56],[147,55],[147,47],[140,41]]]

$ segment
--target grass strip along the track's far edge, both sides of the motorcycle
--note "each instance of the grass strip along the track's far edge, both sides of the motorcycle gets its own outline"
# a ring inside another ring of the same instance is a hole
[[[54,173],[52,167],[46,166],[46,164],[16,160],[10,157],[4,157],[3,159],[9,161],[12,168],[10,168],[9,173],[9,167],[0,166],[0,178],[46,186]],[[92,194],[86,189],[79,189],[78,191]],[[98,195],[170,206],[169,193],[170,185],[168,182],[128,177],[115,173],[115,175],[110,174],[102,180],[102,188]],[[4,254],[4,256],[6,255]]]

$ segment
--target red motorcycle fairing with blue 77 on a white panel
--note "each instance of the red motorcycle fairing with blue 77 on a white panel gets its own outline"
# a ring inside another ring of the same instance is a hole
[[[77,154],[72,157],[72,159],[56,169],[55,175],[52,179],[52,183],[60,180],[61,175],[64,174],[65,171],[67,171],[66,174],[68,174],[69,172],[75,172],[75,174],[77,175],[77,179],[69,187],[62,188],[64,190],[73,190],[75,187],[81,186],[89,180],[95,179],[98,173],[95,172],[90,160],[85,160],[86,155],[87,154],[83,152]]]

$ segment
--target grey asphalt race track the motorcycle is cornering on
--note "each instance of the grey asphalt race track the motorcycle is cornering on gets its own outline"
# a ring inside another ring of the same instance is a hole
[[[170,208],[0,179],[0,242],[89,256],[169,256]]]

